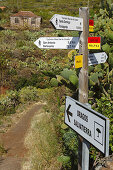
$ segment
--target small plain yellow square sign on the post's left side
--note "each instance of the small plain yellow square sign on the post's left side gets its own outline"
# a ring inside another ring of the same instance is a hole
[[[83,67],[83,55],[75,56],[75,68]]]

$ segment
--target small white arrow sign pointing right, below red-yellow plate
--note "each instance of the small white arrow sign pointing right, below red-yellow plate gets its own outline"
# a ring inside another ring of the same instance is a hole
[[[101,53],[93,53],[88,55],[88,65],[100,64],[105,63],[108,56],[105,52]]]

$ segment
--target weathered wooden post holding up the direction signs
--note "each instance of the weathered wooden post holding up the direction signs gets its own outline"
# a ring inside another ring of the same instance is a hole
[[[83,18],[83,32],[80,33],[79,54],[83,54],[83,68],[79,72],[79,101],[88,103],[88,36],[89,8],[79,8],[79,17]],[[82,170],[82,137],[79,136],[78,170]]]

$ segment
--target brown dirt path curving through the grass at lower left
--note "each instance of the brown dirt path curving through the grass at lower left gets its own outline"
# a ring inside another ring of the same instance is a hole
[[[34,104],[20,121],[7,133],[1,136],[2,143],[7,150],[5,157],[0,159],[0,170],[20,170],[27,149],[24,138],[35,113],[40,113],[42,104]]]

